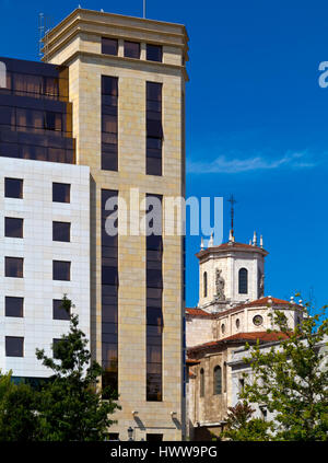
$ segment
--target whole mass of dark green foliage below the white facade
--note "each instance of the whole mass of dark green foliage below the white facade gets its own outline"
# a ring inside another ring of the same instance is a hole
[[[62,306],[72,304],[66,297]],[[79,328],[78,315],[70,315],[70,331],[54,346],[54,358],[36,350],[52,375],[40,390],[13,384],[11,372],[0,373],[1,441],[96,441],[105,440],[120,408],[117,391],[101,391],[102,367],[91,359],[87,340]],[[103,400],[106,395],[106,400]]]

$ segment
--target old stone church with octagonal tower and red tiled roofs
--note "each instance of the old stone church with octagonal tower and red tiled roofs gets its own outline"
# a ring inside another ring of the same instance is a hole
[[[265,296],[263,240],[254,233],[248,244],[235,241],[232,229],[227,243],[208,247],[201,241],[199,302],[186,309],[187,433],[190,440],[211,440],[224,428],[227,408],[234,406],[244,379],[232,374],[236,349],[259,340],[278,342],[272,313],[283,311],[291,328],[302,321],[304,308]],[[236,392],[237,391],[237,392]]]

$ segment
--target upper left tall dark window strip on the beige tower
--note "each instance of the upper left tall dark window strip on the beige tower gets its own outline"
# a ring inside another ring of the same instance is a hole
[[[118,170],[118,79],[102,76],[102,169]]]

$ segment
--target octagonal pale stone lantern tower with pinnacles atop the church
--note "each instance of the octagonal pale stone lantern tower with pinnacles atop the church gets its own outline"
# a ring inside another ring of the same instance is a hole
[[[256,233],[249,244],[237,243],[230,233],[227,243],[213,245],[197,254],[199,259],[198,308],[220,312],[263,296],[265,257],[262,238],[257,243]]]

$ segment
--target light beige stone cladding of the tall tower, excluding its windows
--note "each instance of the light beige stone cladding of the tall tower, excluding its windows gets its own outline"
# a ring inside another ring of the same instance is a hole
[[[118,56],[102,55],[102,37],[118,38]],[[125,58],[124,40],[141,43],[140,59]],[[45,40],[45,60],[69,67],[77,160],[91,170],[91,344],[102,359],[101,190],[116,189],[136,220],[145,194],[185,194],[184,95],[188,36],[183,25],[78,9]],[[163,62],[145,60],[145,44],[163,46]],[[101,169],[101,81],[118,78],[118,171]],[[163,175],[145,174],[145,83],[163,83]],[[130,204],[130,188],[139,201]],[[121,217],[119,216],[119,228]],[[128,230],[130,216],[128,215]],[[183,247],[180,236],[163,236],[163,402],[145,400],[145,238],[118,239],[118,392],[121,412],[110,431],[134,439],[163,433],[180,440],[183,398]],[[132,415],[132,412],[138,412]],[[172,412],[176,413],[173,419]]]

